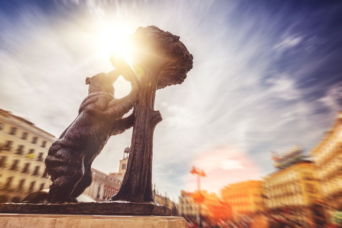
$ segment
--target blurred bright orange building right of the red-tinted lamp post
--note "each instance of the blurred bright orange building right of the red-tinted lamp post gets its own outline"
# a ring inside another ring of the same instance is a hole
[[[256,214],[263,211],[262,182],[248,180],[227,185],[221,189],[221,198],[236,215]]]

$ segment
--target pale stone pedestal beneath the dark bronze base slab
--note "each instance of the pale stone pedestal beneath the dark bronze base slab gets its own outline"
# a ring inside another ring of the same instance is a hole
[[[70,214],[0,214],[5,228],[185,228],[183,217],[122,216],[122,215],[70,215]]]

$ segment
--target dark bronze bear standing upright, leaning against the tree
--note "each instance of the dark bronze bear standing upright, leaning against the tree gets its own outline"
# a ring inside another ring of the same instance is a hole
[[[76,119],[51,145],[45,166],[52,185],[45,203],[77,202],[76,198],[92,183],[91,164],[111,135],[121,134],[134,123],[139,97],[136,80],[131,92],[122,98],[114,96],[114,82],[119,71],[98,73],[86,78],[88,96],[82,101]]]

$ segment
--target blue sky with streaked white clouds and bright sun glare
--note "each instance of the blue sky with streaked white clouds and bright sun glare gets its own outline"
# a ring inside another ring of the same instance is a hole
[[[194,56],[182,85],[158,90],[163,121],[153,181],[175,198],[260,179],[270,151],[308,152],[342,104],[339,1],[6,1],[0,7],[0,107],[58,135],[76,117],[86,77],[113,69],[118,31],[156,25]],[[116,96],[128,94],[122,78]],[[132,131],[112,137],[93,167],[117,172]]]

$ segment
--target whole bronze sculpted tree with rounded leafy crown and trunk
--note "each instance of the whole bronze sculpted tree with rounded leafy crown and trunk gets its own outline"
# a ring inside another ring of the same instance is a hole
[[[193,67],[193,56],[179,38],[156,26],[140,27],[129,37],[134,51],[134,71],[124,73],[123,77],[128,81],[134,77],[140,81],[140,96],[134,108],[127,171],[121,188],[109,201],[155,202],[152,193],[153,132],[162,120],[160,112],[154,110],[156,90],[181,84]],[[116,58],[111,62],[119,66]]]

